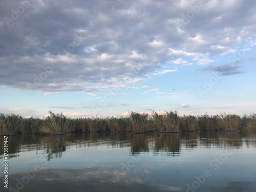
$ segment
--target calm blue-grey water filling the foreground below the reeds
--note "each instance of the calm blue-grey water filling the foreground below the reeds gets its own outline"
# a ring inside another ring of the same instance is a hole
[[[256,134],[83,133],[4,137],[0,191],[256,191]]]

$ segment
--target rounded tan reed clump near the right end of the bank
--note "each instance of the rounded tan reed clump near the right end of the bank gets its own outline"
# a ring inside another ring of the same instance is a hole
[[[238,131],[241,128],[241,118],[238,115],[221,114],[218,118],[219,127],[225,131]]]

